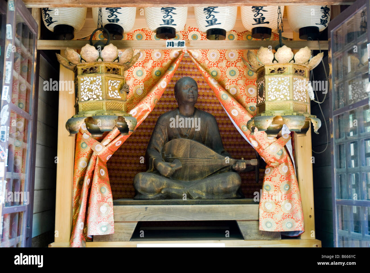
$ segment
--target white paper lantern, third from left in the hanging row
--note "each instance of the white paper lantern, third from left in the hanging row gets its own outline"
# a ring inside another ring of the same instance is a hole
[[[157,38],[172,39],[176,32],[184,30],[187,7],[146,7],[145,20],[151,31],[156,32]]]

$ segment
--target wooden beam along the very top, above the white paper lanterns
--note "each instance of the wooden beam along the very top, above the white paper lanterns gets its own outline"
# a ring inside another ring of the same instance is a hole
[[[355,0],[116,0],[115,7],[158,7],[158,6],[279,6],[279,5],[350,5]],[[111,7],[111,0],[23,0],[28,8],[34,7]]]

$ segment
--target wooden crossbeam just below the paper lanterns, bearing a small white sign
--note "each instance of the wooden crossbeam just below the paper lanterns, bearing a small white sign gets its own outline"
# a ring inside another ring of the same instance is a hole
[[[37,50],[62,50],[67,47],[73,49],[81,49],[85,44],[88,44],[88,40],[38,40]],[[111,41],[118,49],[132,47],[133,49],[167,49],[166,42],[164,40],[157,41]],[[275,46],[279,41],[186,41],[187,49],[235,49],[235,50],[246,50],[246,49],[259,49],[260,47]],[[287,47],[292,49],[299,49],[308,46],[312,50],[319,49],[319,42],[317,41],[284,41]],[[321,50],[328,49],[327,41],[320,41]]]

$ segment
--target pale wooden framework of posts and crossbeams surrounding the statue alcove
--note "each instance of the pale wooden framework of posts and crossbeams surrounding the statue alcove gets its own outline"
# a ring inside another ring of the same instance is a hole
[[[202,4],[194,3],[193,0],[182,2],[180,5],[176,1],[166,1],[166,5],[176,3],[177,6],[204,6],[207,3],[212,5],[218,4],[219,6],[243,6],[254,4],[255,0],[247,0],[243,3],[238,1],[225,1],[216,3],[214,1],[203,1]],[[299,1],[299,0],[280,0],[268,1],[269,5],[273,4],[310,4],[317,2],[320,4],[351,4],[353,1]],[[98,7],[107,6],[107,1],[89,0],[85,1],[82,5],[75,0],[63,1],[38,1],[38,0],[25,0],[28,7],[40,8],[48,7]],[[118,1],[117,6],[158,6],[161,1],[143,1],[138,3],[128,1]],[[164,2],[163,2],[164,3]],[[263,4],[263,3],[259,3]],[[39,21],[40,22],[40,21]],[[276,41],[275,41],[276,42]],[[39,50],[57,50],[70,48],[81,48],[87,41],[55,41],[55,40],[38,40]],[[260,46],[268,47],[272,41],[186,41],[187,49],[258,49]],[[276,42],[277,43],[277,42]],[[292,49],[299,49],[309,46],[313,50],[319,49],[317,41],[302,41],[295,37],[294,41],[284,41],[284,43]],[[165,49],[163,41],[112,41],[112,44],[118,48],[132,47],[135,49]],[[321,50],[327,50],[327,41],[320,41]],[[66,68],[60,66],[60,80],[73,80],[73,73]],[[71,236],[72,224],[72,189],[73,189],[73,167],[74,162],[74,138],[69,137],[64,128],[64,124],[68,118],[74,114],[74,94],[68,94],[68,91],[60,92],[59,94],[59,117],[58,117],[58,160],[57,166],[57,201],[55,207],[55,231],[58,237],[55,237],[55,242],[50,244],[50,247],[68,247]],[[311,154],[312,144],[309,130],[306,137],[295,137],[295,160],[297,179],[299,182],[300,193],[302,198],[303,215],[305,220],[305,233],[300,236],[300,239],[286,239],[286,240],[228,240],[217,241],[224,242],[226,246],[286,246],[286,247],[321,247],[321,242],[315,239],[314,236],[314,210],[313,210],[313,177],[312,177],[312,164],[310,163],[310,156],[298,156],[303,154]],[[307,165],[309,166],[307,168]],[[130,221],[128,221],[130,222]],[[135,221],[134,221],[135,222]],[[136,224],[135,224],[136,225]],[[313,232],[312,232],[313,231]],[[176,243],[177,241],[165,241],[166,243]],[[181,241],[181,243],[210,243],[213,241]],[[87,247],[135,247],[138,242],[87,242]],[[164,243],[161,241],[150,241],[140,243]]]

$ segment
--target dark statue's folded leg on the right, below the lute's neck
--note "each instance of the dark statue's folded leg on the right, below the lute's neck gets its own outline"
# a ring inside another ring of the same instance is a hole
[[[241,179],[236,172],[224,172],[206,177],[188,187],[191,199],[236,199],[243,198],[239,193]]]

